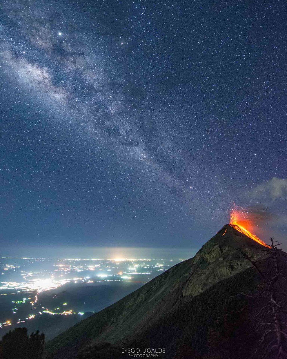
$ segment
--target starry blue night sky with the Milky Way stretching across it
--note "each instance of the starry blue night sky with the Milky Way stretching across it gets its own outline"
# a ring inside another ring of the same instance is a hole
[[[0,244],[287,227],[285,1],[1,1]]]

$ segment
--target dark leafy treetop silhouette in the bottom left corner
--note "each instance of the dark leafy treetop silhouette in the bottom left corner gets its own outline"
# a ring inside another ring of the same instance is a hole
[[[15,328],[5,334],[0,341],[0,359],[41,359],[45,335],[27,334],[27,328]]]

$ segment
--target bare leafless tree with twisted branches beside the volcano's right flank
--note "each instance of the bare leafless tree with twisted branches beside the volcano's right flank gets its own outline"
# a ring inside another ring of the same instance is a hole
[[[255,295],[246,295],[262,303],[261,308],[254,316],[254,323],[258,332],[261,332],[254,356],[258,358],[287,359],[287,294],[286,265],[287,257],[277,248],[281,243],[274,244],[270,238],[271,246],[267,250],[268,256],[263,269],[246,253],[240,251],[244,258],[249,260],[260,274],[262,281]]]

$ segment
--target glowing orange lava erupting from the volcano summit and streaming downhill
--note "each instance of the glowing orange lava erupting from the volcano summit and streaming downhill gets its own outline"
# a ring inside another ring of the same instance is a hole
[[[244,211],[244,209],[242,207],[237,207],[235,205],[235,203],[233,204],[232,209],[230,211],[229,225],[231,225],[231,227],[238,230],[238,232],[241,232],[241,233],[245,234],[245,236],[258,242],[262,246],[271,248],[270,246],[268,246],[268,244],[266,244],[264,241],[261,241],[261,239],[259,239],[257,236],[255,236],[255,234],[252,234],[250,232],[250,230],[246,229],[246,227],[247,227],[252,230],[252,224],[250,222],[250,219],[248,218],[248,215]]]

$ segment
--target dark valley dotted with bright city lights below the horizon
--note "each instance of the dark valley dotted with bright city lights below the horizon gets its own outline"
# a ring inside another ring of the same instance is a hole
[[[177,262],[1,258],[0,334],[10,327],[29,326],[31,321],[46,321],[43,318],[47,316],[69,316],[71,325],[140,288]]]

